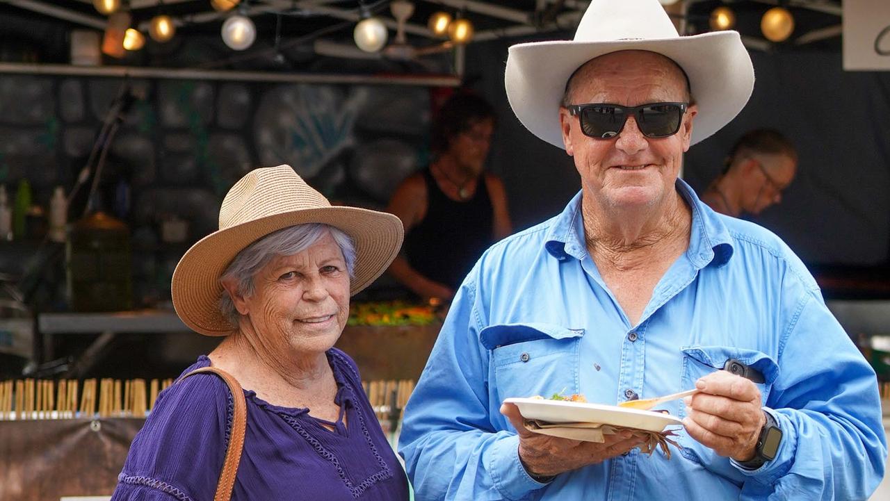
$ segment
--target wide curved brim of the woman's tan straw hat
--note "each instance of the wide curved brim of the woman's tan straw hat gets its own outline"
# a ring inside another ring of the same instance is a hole
[[[360,207],[330,206],[274,214],[219,230],[191,246],[173,273],[171,294],[176,314],[203,335],[229,335],[237,327],[223,317],[220,277],[241,250],[273,231],[320,222],[343,230],[355,244],[350,295],[368,287],[399,254],[404,234],[401,220]]]

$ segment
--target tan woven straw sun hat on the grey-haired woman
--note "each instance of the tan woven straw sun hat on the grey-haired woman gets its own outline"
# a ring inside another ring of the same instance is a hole
[[[251,171],[231,187],[220,207],[220,229],[182,256],[173,273],[173,305],[179,318],[203,335],[228,335],[236,327],[223,317],[220,276],[232,259],[273,231],[321,222],[343,230],[355,243],[350,294],[368,287],[399,253],[404,231],[392,214],[331,206],[291,166]]]

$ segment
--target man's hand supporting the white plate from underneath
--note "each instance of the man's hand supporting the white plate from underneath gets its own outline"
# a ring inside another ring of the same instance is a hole
[[[643,438],[635,437],[627,430],[606,435],[603,443],[542,435],[522,426],[522,415],[514,404],[503,404],[500,411],[519,433],[519,459],[525,470],[534,476],[549,477],[602,463],[643,443]]]

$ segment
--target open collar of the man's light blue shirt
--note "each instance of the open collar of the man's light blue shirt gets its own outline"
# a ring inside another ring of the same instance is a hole
[[[710,207],[701,202],[695,191],[682,179],[676,180],[676,190],[692,207],[692,231],[686,256],[696,268],[710,263],[723,266],[732,257],[732,238],[729,230]],[[544,247],[560,261],[569,257],[581,260],[587,255],[584,243],[584,221],[581,216],[581,191],[571,198],[569,205],[556,216],[547,231]]]

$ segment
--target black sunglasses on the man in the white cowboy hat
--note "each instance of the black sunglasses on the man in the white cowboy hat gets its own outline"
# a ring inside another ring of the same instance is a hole
[[[633,115],[636,126],[648,138],[667,137],[676,134],[683,122],[688,103],[651,102],[640,106],[618,104],[572,104],[566,109],[572,117],[578,116],[581,132],[596,139],[611,139],[621,133],[627,117]]]

